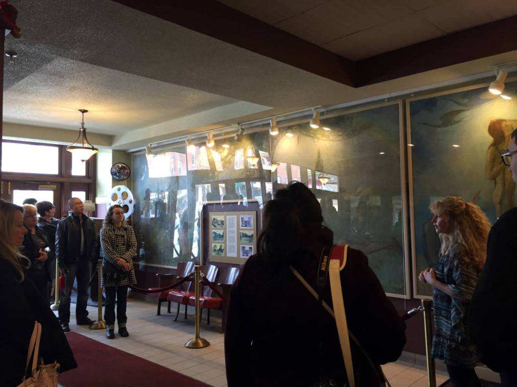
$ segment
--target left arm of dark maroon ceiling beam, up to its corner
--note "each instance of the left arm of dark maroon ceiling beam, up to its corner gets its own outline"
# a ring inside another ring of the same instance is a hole
[[[354,62],[215,0],[112,0],[336,82],[355,86]]]

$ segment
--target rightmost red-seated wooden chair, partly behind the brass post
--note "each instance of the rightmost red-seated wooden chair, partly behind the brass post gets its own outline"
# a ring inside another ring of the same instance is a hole
[[[219,279],[217,280],[217,286],[226,298],[230,297],[230,288],[237,279],[238,275],[239,269],[237,267],[226,267],[221,270],[221,274],[219,275]],[[216,308],[222,310],[223,315],[221,320],[221,333],[223,333],[224,328],[226,326],[226,302],[223,302],[223,300],[217,296],[212,297],[211,294],[212,289],[209,286],[205,285],[203,289],[203,295],[200,295],[199,297],[200,320],[201,312],[203,312],[203,309],[208,309],[208,317],[206,320],[207,325],[210,325],[210,309]],[[189,305],[195,305],[195,295],[189,297]]]

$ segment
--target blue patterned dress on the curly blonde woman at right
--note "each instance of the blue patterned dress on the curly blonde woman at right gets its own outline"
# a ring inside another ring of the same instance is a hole
[[[438,281],[447,284],[452,292],[469,301],[481,272],[463,245],[454,245],[445,255],[440,256],[434,271]],[[478,363],[476,347],[470,340],[466,325],[469,301],[460,301],[433,288],[433,358],[465,368],[472,368]]]

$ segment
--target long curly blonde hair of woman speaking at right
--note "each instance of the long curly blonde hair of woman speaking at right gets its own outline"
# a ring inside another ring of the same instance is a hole
[[[491,228],[482,209],[455,196],[436,200],[429,208],[434,215],[445,217],[452,225],[451,233],[440,234],[440,255],[445,255],[454,245],[461,244],[481,269],[486,260],[486,240]]]

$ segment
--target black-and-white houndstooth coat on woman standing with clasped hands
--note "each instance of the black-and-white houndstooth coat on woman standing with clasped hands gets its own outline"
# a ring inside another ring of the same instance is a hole
[[[129,262],[133,266],[133,256],[136,255],[136,237],[134,236],[133,228],[122,223],[120,227],[108,225],[100,229],[100,249],[104,256],[104,261],[110,261],[116,265],[116,258]],[[116,281],[104,281],[104,276],[101,278],[101,286],[123,286],[136,283],[136,276],[134,269],[131,268],[126,279]]]

